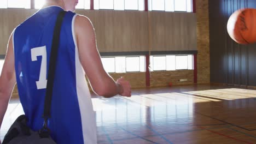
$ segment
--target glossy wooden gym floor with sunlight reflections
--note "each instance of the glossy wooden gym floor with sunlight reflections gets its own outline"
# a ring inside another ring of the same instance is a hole
[[[228,86],[134,90],[131,98],[92,96],[98,143],[256,143],[256,91]],[[0,138],[23,113],[10,101]]]

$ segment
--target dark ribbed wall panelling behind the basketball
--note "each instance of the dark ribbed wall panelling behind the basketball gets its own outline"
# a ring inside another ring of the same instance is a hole
[[[256,86],[256,44],[237,44],[226,32],[230,15],[237,9],[256,8],[256,1],[209,2],[211,82]]]

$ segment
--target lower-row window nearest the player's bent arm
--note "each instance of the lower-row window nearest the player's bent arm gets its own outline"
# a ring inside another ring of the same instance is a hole
[[[102,57],[104,69],[108,73],[145,72],[145,56]]]

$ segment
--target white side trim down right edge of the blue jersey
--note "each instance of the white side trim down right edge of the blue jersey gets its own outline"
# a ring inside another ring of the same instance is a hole
[[[75,44],[75,78],[77,85],[77,97],[80,109],[84,143],[95,144],[97,143],[97,130],[95,112],[92,106],[91,94],[85,79],[85,72],[79,60],[77,40],[74,34],[74,15],[72,20],[72,33]]]

